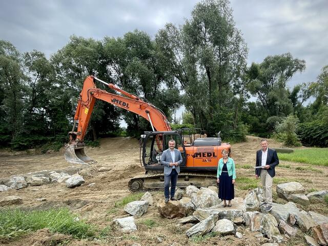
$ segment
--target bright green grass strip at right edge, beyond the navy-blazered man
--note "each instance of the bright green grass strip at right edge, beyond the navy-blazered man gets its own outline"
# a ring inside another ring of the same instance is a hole
[[[293,153],[278,153],[280,160],[301,162],[311,165],[328,167],[327,148],[296,149]]]

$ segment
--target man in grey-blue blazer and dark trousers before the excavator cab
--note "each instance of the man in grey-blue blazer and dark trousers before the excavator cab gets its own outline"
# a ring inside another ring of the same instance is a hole
[[[180,164],[182,162],[182,156],[179,150],[175,149],[175,141],[171,139],[169,141],[169,149],[163,151],[160,157],[161,165],[164,165],[164,195],[165,203],[169,202],[171,195],[171,200],[176,201],[174,197],[176,182],[178,180],[178,174],[180,172]],[[171,182],[171,192],[170,192],[170,182]],[[171,194],[170,194],[171,193]]]

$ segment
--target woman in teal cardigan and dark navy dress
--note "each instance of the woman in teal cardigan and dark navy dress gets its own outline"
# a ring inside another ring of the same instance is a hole
[[[222,150],[223,158],[217,165],[217,182],[219,185],[219,198],[223,200],[223,208],[231,207],[231,200],[235,198],[234,183],[236,181],[236,167],[232,158],[228,157],[228,151]]]

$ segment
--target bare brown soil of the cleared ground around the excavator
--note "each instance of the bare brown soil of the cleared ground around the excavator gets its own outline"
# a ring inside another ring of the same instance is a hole
[[[254,169],[242,168],[243,166],[255,166],[255,152],[260,149],[260,139],[258,137],[248,136],[247,141],[232,145],[232,154],[237,164],[237,183],[236,196],[244,197],[247,191],[238,189],[238,177],[254,177]],[[274,140],[269,141],[269,147],[281,147],[281,144]],[[23,198],[23,205],[20,208],[47,209],[54,207],[67,206],[73,212],[78,213],[80,218],[94,224],[99,229],[110,226],[111,221],[115,218],[126,217],[127,214],[123,210],[114,208],[115,201],[128,196],[128,181],[136,175],[144,173],[144,169],[140,166],[139,161],[139,142],[136,139],[129,138],[106,138],[100,140],[99,148],[86,149],[86,153],[97,160],[96,167],[110,167],[109,172],[95,172],[91,177],[86,177],[86,183],[74,189],[66,188],[65,182],[50,183],[45,186],[32,187],[29,186],[22,190],[9,190],[1,192],[0,197],[17,195]],[[0,153],[1,154],[1,153]],[[49,154],[30,154],[0,156],[0,178],[6,178],[10,175],[26,174],[42,170],[58,170],[66,169],[71,166],[63,157],[63,152]],[[17,154],[17,153],[16,153]],[[322,172],[314,171],[298,171],[295,170],[299,166],[308,166],[302,163],[280,161],[281,166],[290,165],[290,168],[277,167],[275,179],[283,182],[298,181],[306,191],[328,190],[328,168],[315,167]],[[259,182],[259,180],[258,180]],[[93,187],[89,187],[90,183],[95,183]],[[286,201],[278,198],[275,193],[274,200],[276,202],[285,203]],[[307,192],[306,192],[307,193]],[[163,199],[160,191],[152,192],[155,202]],[[37,201],[37,198],[46,198],[46,201]],[[11,208],[14,208],[11,207]],[[313,203],[308,207],[300,207],[306,211],[312,211],[328,214],[328,206],[324,203]],[[155,221],[152,227],[147,226],[146,219]],[[177,226],[176,219],[161,218],[155,206],[151,206],[148,212],[140,218],[136,218],[138,231],[132,234],[120,234],[110,232],[109,236],[104,240],[77,240],[65,235],[52,234],[49,236],[48,231],[37,231],[30,233],[18,240],[7,242],[5,245],[49,245],[53,241],[63,243],[61,239],[69,239],[69,245],[131,245],[139,243],[140,245],[170,245],[173,242],[181,245],[224,245],[233,243],[234,245],[261,245],[265,239],[258,239],[255,235],[258,232],[250,232],[249,229],[239,227],[238,231],[243,233],[242,239],[233,236],[213,237],[203,241],[193,241],[186,237],[185,232],[192,225]],[[46,236],[45,236],[46,235]],[[158,243],[157,237],[161,237],[163,242]],[[49,239],[50,238],[50,239]],[[47,240],[46,240],[47,239]],[[47,244],[48,243],[48,244]],[[56,244],[51,244],[56,245]],[[61,244],[62,245],[62,244]],[[282,245],[306,245],[303,242],[302,235]]]

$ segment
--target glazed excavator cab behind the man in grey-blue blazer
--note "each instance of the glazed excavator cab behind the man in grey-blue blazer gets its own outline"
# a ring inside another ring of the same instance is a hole
[[[160,171],[160,157],[164,150],[169,148],[169,140],[175,140],[175,148],[181,152],[182,163],[180,167],[186,166],[186,149],[178,132],[147,132],[141,137],[140,151],[142,150],[141,165],[146,171]]]

